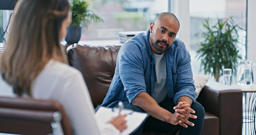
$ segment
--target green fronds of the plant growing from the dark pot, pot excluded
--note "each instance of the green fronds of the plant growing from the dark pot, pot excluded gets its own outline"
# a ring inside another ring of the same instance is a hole
[[[102,18],[92,13],[89,9],[89,3],[84,0],[72,0],[72,23],[71,27],[77,27],[81,23],[87,28],[87,26],[93,21],[95,23],[103,22]]]

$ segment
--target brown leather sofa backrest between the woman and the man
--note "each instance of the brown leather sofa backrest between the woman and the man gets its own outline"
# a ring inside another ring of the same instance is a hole
[[[82,72],[94,107],[101,104],[113,76],[119,46],[74,44],[67,48],[69,65]],[[75,81],[75,80],[74,80]]]

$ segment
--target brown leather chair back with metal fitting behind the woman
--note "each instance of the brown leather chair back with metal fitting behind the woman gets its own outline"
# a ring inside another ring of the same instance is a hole
[[[62,105],[54,100],[0,97],[0,132],[23,135],[71,135]]]

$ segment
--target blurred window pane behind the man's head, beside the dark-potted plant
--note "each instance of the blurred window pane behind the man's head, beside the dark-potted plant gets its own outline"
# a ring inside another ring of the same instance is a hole
[[[90,0],[103,23],[82,29],[81,40],[118,40],[121,31],[146,31],[150,22],[169,10],[170,0]]]

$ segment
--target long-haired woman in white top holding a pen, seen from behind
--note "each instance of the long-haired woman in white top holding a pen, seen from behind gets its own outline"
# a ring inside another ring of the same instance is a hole
[[[98,127],[82,74],[67,65],[59,42],[70,22],[68,0],[18,0],[0,54],[0,89],[9,87],[18,96],[59,101],[73,134],[120,134],[127,127],[126,115]]]

